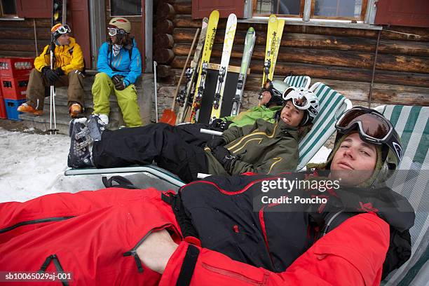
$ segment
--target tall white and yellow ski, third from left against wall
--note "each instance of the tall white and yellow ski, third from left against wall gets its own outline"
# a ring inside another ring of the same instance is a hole
[[[226,74],[228,74],[229,58],[231,57],[232,46],[234,43],[234,36],[236,35],[237,29],[237,16],[236,14],[230,14],[228,22],[226,22],[224,49],[222,50],[221,65],[219,67],[219,76],[217,78],[216,91],[214,93],[212,114],[210,116],[210,122],[220,117],[220,111],[222,108],[222,97],[224,96]]]

